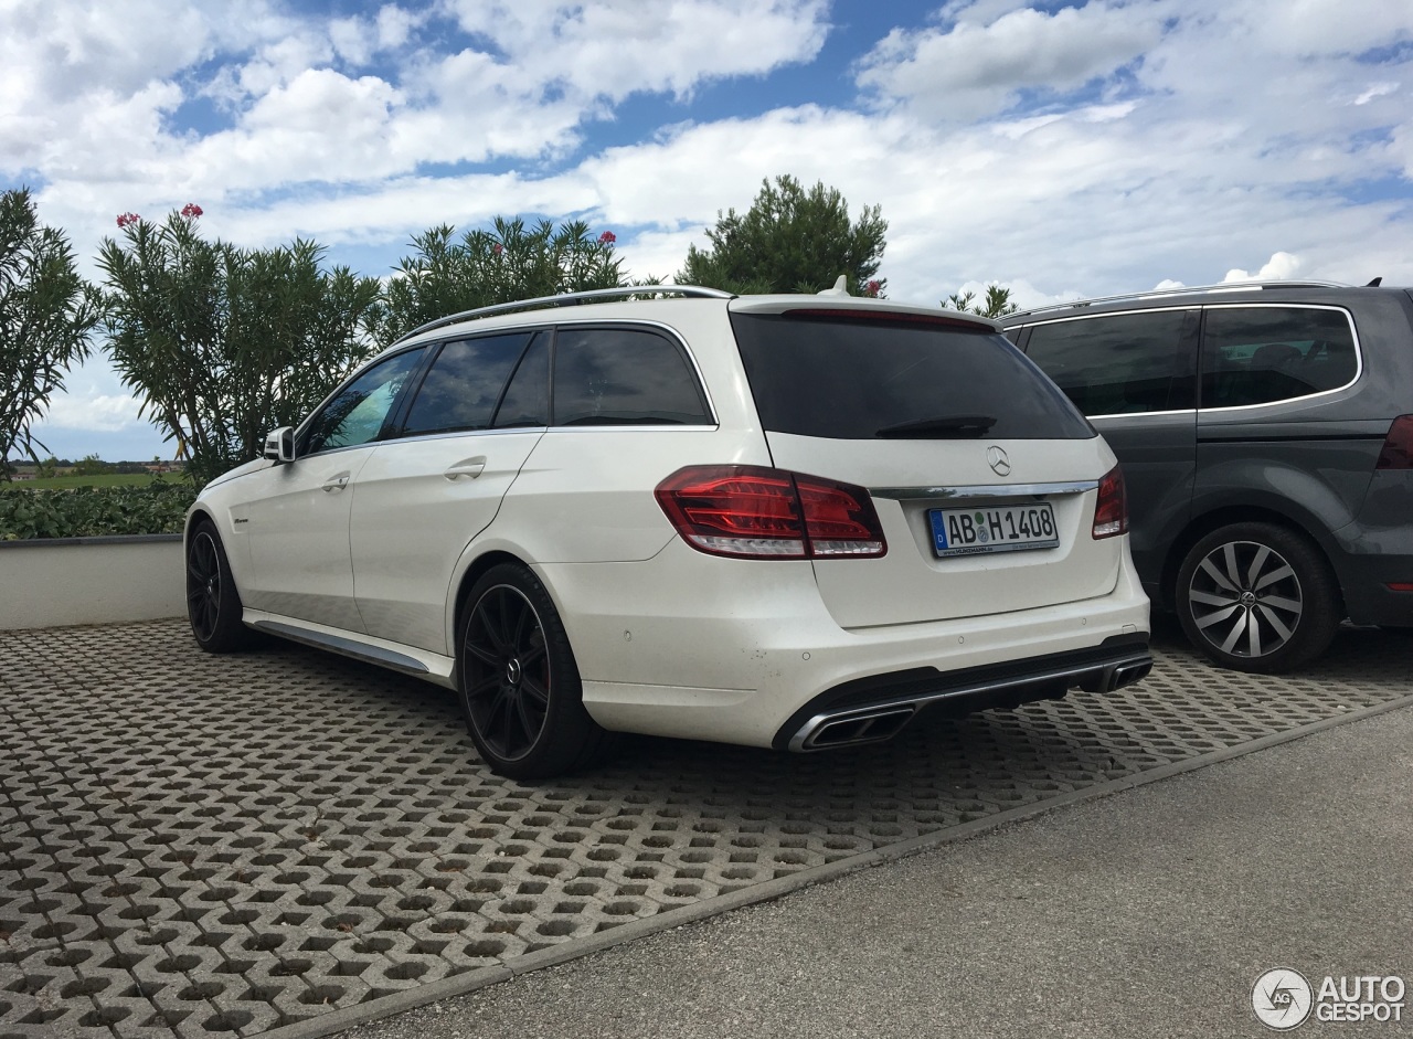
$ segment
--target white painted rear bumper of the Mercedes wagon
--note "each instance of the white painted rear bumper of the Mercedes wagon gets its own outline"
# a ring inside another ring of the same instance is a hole
[[[804,560],[716,558],[674,540],[643,563],[536,570],[568,629],[585,708],[625,732],[788,746],[791,721],[859,690],[869,698],[845,707],[999,705],[1061,681],[1113,687],[1113,667],[1146,659],[1149,602],[1128,563],[1108,594],[1077,602],[853,629],[829,615]],[[1050,669],[1065,654],[1095,656]],[[920,684],[899,690],[900,676]],[[981,677],[995,703],[972,688]]]

